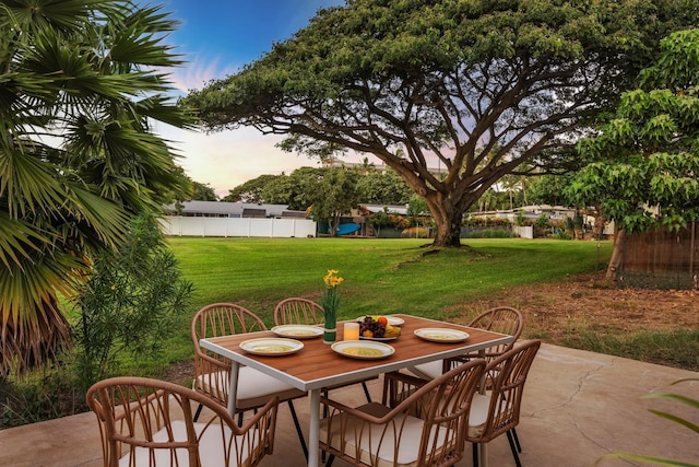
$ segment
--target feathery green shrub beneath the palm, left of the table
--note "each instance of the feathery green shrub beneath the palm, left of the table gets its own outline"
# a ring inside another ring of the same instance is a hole
[[[157,221],[139,217],[119,252],[97,256],[76,299],[76,364],[84,388],[107,376],[122,351],[158,351],[190,294]]]

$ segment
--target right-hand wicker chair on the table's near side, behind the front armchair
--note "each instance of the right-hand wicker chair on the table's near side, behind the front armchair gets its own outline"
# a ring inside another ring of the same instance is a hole
[[[534,362],[541,340],[531,340],[509,350],[488,363],[486,376],[493,382],[485,394],[473,396],[466,441],[473,443],[473,465],[478,465],[481,443],[507,434],[517,467],[521,467],[514,427],[520,422],[520,408],[526,375]]]

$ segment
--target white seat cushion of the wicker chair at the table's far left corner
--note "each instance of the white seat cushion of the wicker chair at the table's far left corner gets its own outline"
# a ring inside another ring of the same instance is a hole
[[[218,400],[228,400],[228,372],[199,375],[194,387],[204,393],[214,394]],[[272,396],[280,396],[280,400],[288,400],[305,395],[305,392],[250,366],[240,366],[238,371],[236,407],[240,410],[261,407]]]

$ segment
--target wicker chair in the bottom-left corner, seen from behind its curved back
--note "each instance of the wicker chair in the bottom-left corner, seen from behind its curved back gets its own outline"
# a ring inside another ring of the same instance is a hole
[[[273,450],[275,397],[242,427],[212,399],[157,380],[105,380],[86,397],[99,423],[105,467],[257,466]],[[193,421],[192,402],[210,409],[205,422]]]

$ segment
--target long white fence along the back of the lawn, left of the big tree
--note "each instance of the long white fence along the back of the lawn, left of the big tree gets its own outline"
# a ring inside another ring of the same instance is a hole
[[[316,221],[308,219],[191,218],[166,215],[165,235],[175,236],[316,236]]]

